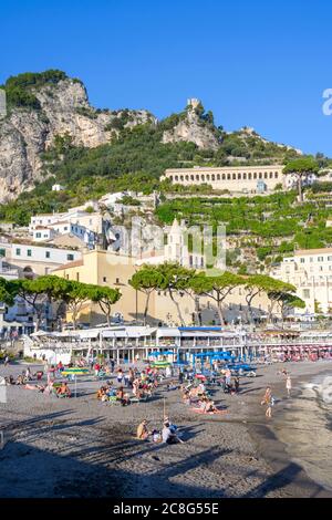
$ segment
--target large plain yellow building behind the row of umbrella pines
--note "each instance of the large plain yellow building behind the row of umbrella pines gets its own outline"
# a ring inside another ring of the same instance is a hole
[[[92,250],[83,253],[82,260],[60,266],[53,270],[53,274],[62,277],[66,280],[75,280],[83,283],[93,283],[97,285],[106,285],[120,289],[122,298],[114,304],[112,314],[117,313],[125,321],[142,320],[145,308],[145,294],[135,291],[128,280],[139,269],[136,259],[125,254],[118,254],[112,251]],[[194,323],[195,306],[199,306],[201,318],[205,323],[218,323],[218,313],[214,302],[207,298],[199,298],[199,302],[195,303],[195,299],[186,293],[174,295],[174,300],[169,294],[163,291],[153,292],[149,306],[147,322],[149,324],[158,324],[160,322],[167,324],[190,325]],[[257,297],[253,302],[257,315],[268,308],[267,298]],[[246,299],[243,288],[234,289],[225,301],[225,311],[228,322],[246,316]],[[68,316],[71,321],[71,316]],[[80,321],[95,325],[105,323],[98,304],[86,303],[80,314]]]

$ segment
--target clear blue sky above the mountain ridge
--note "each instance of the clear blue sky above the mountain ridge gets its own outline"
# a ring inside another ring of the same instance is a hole
[[[157,117],[199,97],[227,131],[332,157],[332,2],[0,0],[0,83],[61,69],[97,107]]]

